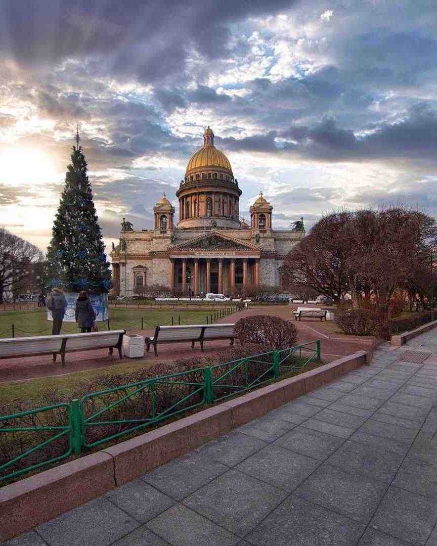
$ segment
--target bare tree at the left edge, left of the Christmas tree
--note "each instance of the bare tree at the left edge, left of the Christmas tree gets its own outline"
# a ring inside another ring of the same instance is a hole
[[[0,302],[4,293],[31,274],[33,264],[42,259],[38,247],[0,228]]]

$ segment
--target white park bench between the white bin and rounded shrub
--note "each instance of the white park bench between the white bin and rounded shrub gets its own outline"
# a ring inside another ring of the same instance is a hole
[[[234,324],[190,324],[187,326],[157,326],[153,337],[145,337],[146,351],[153,345],[155,357],[158,343],[180,343],[191,341],[191,347],[198,341],[203,349],[205,340],[230,339],[234,342]]]

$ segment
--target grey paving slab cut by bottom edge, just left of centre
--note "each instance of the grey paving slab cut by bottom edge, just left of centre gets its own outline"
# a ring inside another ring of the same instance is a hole
[[[240,537],[183,505],[176,505],[146,524],[175,546],[234,546]]]

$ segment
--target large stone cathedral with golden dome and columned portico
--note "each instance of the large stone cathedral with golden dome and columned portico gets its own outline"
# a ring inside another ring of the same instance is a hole
[[[294,229],[274,230],[273,206],[262,193],[250,207],[250,224],[239,216],[241,189],[231,163],[214,146],[208,127],[203,147],[188,162],[175,208],[164,194],[153,207],[155,227],[137,230],[123,219],[113,247],[114,290],[132,296],[160,284],[176,294],[239,294],[245,287],[282,286],[281,265],[305,236],[303,218]]]

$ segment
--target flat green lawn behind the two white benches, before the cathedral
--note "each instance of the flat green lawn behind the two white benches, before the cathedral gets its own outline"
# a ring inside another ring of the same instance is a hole
[[[144,328],[156,327],[157,325],[171,324],[172,317],[174,324],[178,324],[181,317],[181,324],[205,324],[206,316],[211,311],[150,311],[126,308],[109,308],[109,323],[111,330],[115,329],[139,329],[141,328],[141,317],[143,317]],[[214,316],[214,312],[212,312]],[[15,328],[15,337],[31,335],[50,335],[51,322],[47,319],[46,309],[37,308],[31,311],[7,311],[0,313],[0,337],[12,337],[12,324]],[[107,324],[97,323],[99,330],[107,330]],[[76,323],[64,322],[62,334],[78,333],[80,330]]]

